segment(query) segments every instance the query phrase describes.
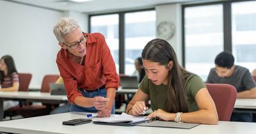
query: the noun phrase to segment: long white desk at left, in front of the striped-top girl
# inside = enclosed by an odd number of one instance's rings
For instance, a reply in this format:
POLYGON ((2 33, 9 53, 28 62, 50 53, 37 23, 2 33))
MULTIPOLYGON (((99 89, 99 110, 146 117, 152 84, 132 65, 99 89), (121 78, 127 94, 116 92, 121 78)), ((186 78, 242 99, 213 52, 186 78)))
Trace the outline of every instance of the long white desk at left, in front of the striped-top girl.
POLYGON ((0 121, 3 121, 3 101, 4 100, 22 100, 44 103, 67 103, 65 95, 51 95, 41 92, 3 92, 0 91, 0 121))

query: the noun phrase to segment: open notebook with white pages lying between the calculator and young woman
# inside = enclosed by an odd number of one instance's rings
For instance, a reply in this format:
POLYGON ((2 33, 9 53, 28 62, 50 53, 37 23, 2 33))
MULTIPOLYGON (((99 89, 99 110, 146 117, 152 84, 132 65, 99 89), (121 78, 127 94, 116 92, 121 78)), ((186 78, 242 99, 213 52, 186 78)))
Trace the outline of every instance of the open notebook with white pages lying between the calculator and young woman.
POLYGON ((120 125, 120 126, 134 126, 136 124, 145 123, 149 121, 149 118, 145 117, 136 117, 133 115, 128 115, 122 113, 121 115, 113 115, 111 117, 102 117, 93 119, 95 124, 111 124, 111 125, 120 125))

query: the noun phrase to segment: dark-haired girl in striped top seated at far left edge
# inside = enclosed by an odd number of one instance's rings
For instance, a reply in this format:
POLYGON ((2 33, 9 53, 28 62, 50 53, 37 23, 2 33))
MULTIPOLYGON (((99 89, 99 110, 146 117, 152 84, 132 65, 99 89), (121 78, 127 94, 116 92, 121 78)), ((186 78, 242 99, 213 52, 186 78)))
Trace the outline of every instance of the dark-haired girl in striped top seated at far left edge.
MULTIPOLYGON (((0 59, 0 91, 18 91, 19 74, 17 73, 13 58, 3 56, 0 59)), ((19 101, 4 101, 4 110, 19 105, 19 101)))

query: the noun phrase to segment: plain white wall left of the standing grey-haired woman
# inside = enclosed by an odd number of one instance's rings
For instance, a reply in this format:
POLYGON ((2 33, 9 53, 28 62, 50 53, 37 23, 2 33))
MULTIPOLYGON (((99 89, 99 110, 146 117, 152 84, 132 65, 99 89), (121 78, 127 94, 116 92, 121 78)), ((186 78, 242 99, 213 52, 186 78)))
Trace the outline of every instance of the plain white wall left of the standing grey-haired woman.
POLYGON ((59 74, 60 49, 52 27, 62 12, 0 1, 0 57, 9 54, 19 72, 32 73, 29 87, 40 88, 47 74, 59 74))

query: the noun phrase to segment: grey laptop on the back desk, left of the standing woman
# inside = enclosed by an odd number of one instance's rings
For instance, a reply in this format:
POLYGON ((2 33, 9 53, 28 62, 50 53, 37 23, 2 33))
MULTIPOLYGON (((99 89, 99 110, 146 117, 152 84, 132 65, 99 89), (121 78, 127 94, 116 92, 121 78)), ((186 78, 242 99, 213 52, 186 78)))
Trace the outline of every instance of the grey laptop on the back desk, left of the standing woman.
POLYGON ((50 83, 51 95, 66 95, 66 89, 63 84, 50 83))

